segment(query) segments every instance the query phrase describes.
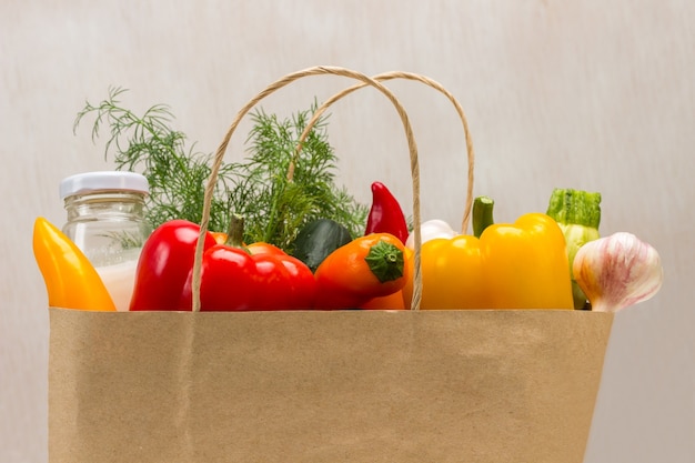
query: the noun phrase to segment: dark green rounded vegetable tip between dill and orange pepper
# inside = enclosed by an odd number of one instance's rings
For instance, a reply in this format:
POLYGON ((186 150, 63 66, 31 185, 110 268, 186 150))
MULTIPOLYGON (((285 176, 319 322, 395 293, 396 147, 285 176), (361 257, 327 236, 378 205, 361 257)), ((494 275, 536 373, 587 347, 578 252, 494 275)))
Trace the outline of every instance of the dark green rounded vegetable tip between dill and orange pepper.
POLYGON ((338 248, 352 241, 350 231, 331 219, 318 219, 304 225, 294 239, 292 255, 312 272, 338 248))

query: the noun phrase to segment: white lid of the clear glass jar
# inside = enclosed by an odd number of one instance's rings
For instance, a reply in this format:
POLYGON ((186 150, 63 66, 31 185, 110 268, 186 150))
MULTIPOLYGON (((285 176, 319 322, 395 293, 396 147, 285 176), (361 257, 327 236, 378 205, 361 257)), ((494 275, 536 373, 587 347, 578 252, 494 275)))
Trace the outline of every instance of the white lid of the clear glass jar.
POLYGON ((94 191, 132 191, 149 193, 148 179, 135 172, 102 171, 78 173, 60 182, 60 199, 94 191))

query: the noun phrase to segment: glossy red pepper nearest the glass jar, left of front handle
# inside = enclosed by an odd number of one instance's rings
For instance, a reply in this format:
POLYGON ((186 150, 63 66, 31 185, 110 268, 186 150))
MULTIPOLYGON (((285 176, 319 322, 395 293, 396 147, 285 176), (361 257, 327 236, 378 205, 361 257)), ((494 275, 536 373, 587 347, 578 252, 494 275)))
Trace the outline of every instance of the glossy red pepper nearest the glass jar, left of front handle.
MULTIPOLYGON (((200 225, 185 220, 164 222, 152 232, 138 261, 130 310, 191 310, 185 283, 199 235, 200 225)), ((208 233, 204 249, 214 244, 214 238, 208 233)))

